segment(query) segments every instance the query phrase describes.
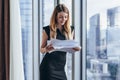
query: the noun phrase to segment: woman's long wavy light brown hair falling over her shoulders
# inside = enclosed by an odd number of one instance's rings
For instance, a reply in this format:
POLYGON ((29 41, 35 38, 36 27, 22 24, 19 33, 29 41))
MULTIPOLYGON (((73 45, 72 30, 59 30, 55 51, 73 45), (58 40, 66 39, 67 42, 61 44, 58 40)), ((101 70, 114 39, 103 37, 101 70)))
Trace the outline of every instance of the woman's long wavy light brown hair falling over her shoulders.
POLYGON ((66 39, 71 39, 71 28, 70 28, 70 17, 69 17, 69 10, 64 4, 58 4, 51 16, 50 20, 50 38, 56 39, 56 30, 57 30, 57 15, 59 12, 65 12, 68 14, 67 21, 63 26, 63 34, 65 35, 66 39))

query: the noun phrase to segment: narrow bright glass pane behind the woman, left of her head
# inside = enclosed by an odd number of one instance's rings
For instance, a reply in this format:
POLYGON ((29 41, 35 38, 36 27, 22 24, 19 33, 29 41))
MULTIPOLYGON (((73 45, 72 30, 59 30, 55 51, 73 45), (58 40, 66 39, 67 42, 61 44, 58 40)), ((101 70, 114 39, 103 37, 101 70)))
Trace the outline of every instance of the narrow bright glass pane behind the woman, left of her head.
MULTIPOLYGON (((48 0, 43 0, 42 1, 42 27, 47 26, 50 24, 50 18, 54 9, 54 0, 49 0, 49 4, 48 4, 48 0), (49 13, 49 14, 48 14, 49 13)), ((42 28, 41 28, 42 30, 42 28)), ((42 34, 42 32, 40 32, 40 34, 42 34)), ((40 42, 42 41, 42 36, 40 36, 40 42)), ((44 57, 44 54, 40 54, 40 63, 42 61, 44 57)))

